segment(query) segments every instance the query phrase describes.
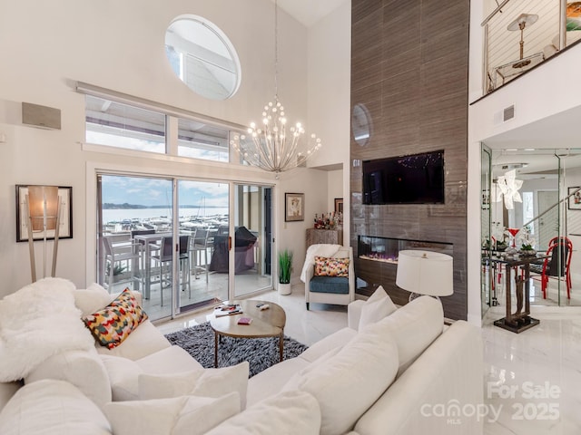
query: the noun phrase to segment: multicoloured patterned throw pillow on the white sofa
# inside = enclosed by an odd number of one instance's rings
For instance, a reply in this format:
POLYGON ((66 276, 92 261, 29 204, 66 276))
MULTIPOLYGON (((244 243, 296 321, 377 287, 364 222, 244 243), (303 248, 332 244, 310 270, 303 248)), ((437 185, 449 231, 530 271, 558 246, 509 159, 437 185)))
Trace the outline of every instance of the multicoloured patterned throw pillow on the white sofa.
POLYGON ((125 288, 111 304, 87 315, 83 321, 99 344, 113 349, 146 319, 147 314, 137 304, 129 288, 125 288))

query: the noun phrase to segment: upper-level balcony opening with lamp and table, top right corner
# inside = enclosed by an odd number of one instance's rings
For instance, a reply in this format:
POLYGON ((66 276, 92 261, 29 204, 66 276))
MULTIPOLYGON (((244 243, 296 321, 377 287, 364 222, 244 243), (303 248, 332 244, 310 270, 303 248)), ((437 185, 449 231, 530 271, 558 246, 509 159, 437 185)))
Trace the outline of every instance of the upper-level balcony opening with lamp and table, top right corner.
POLYGON ((581 1, 494 1, 482 23, 486 92, 581 40, 581 1))

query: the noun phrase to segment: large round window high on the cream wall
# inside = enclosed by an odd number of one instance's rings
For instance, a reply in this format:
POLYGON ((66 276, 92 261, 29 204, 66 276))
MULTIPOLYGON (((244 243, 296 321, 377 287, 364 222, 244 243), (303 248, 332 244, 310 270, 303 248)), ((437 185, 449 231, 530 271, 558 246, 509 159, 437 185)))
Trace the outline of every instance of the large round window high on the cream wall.
POLYGON ((240 86, 241 67, 234 46, 216 25, 181 15, 165 31, 165 54, 172 71, 193 92, 226 100, 240 86))

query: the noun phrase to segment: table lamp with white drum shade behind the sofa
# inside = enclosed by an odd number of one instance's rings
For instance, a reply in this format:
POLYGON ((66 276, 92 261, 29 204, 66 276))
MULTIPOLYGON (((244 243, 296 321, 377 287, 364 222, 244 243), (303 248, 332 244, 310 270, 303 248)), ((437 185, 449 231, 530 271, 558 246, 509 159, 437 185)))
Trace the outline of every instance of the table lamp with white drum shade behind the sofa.
POLYGON ((449 296, 454 293, 453 259, 439 252, 399 251, 396 285, 410 293, 409 300, 420 295, 449 296))

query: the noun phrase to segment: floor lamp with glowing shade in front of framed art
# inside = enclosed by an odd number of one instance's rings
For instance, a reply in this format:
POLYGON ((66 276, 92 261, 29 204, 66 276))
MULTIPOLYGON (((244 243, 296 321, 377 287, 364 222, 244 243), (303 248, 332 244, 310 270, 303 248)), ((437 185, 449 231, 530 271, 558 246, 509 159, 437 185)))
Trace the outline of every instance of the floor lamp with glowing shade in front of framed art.
POLYGON ((36 281, 36 264, 34 262, 34 233, 43 232, 44 256, 43 277, 46 276, 46 232, 54 230, 53 268, 56 272, 56 255, 58 252, 58 232, 60 224, 60 198, 57 186, 28 186, 26 194, 26 214, 28 227, 28 250, 30 253, 30 274, 33 283, 36 281))

